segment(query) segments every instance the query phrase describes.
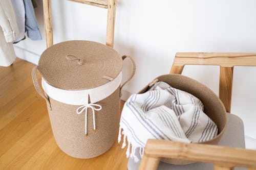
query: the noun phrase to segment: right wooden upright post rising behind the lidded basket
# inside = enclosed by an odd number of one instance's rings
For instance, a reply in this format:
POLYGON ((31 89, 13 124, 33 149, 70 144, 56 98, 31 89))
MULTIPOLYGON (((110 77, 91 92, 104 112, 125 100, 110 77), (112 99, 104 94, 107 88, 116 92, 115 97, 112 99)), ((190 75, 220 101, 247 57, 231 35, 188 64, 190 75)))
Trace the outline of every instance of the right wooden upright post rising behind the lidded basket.
POLYGON ((109 0, 108 2, 108 23, 106 26, 106 45, 114 46, 114 30, 115 30, 115 16, 116 16, 116 0, 109 0))

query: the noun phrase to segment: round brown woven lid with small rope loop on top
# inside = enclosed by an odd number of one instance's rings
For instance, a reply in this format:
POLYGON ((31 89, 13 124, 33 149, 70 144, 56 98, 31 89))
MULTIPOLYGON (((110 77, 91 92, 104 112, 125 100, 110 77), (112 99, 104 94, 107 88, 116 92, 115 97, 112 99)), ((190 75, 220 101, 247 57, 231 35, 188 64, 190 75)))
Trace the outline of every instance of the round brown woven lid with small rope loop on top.
POLYGON ((38 70, 53 87, 84 90, 116 78, 122 69, 121 56, 111 47, 93 41, 65 41, 42 53, 38 70), (104 78, 103 78, 104 77, 104 78))

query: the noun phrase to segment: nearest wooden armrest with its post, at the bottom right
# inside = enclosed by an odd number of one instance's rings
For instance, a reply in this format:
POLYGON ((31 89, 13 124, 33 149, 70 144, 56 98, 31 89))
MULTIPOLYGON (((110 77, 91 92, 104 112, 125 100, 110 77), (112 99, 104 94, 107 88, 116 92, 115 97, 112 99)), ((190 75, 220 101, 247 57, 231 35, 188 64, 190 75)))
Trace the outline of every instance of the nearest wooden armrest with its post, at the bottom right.
POLYGON ((149 139, 139 170, 157 169, 161 157, 214 163, 215 170, 233 169, 234 166, 256 169, 256 151, 253 150, 149 139))

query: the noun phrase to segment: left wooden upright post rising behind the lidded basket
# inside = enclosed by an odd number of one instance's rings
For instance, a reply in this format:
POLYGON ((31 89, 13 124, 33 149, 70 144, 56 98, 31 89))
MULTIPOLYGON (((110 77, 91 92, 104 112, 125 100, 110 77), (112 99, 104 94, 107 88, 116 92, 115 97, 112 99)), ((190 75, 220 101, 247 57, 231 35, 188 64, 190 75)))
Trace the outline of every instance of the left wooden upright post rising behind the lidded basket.
POLYGON ((53 32, 52 32, 52 3, 51 0, 43 0, 44 6, 44 20, 46 30, 46 44, 47 48, 53 45, 53 32))

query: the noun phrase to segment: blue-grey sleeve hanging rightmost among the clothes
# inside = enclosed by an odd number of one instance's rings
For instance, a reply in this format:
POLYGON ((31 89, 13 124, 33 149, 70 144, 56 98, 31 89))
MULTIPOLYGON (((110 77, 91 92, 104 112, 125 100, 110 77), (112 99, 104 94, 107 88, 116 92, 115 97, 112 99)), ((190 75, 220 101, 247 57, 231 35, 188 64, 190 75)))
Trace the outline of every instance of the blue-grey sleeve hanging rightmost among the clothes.
POLYGON ((25 27, 27 35, 32 40, 41 40, 41 33, 35 17, 35 11, 31 0, 24 0, 25 6, 25 27))

